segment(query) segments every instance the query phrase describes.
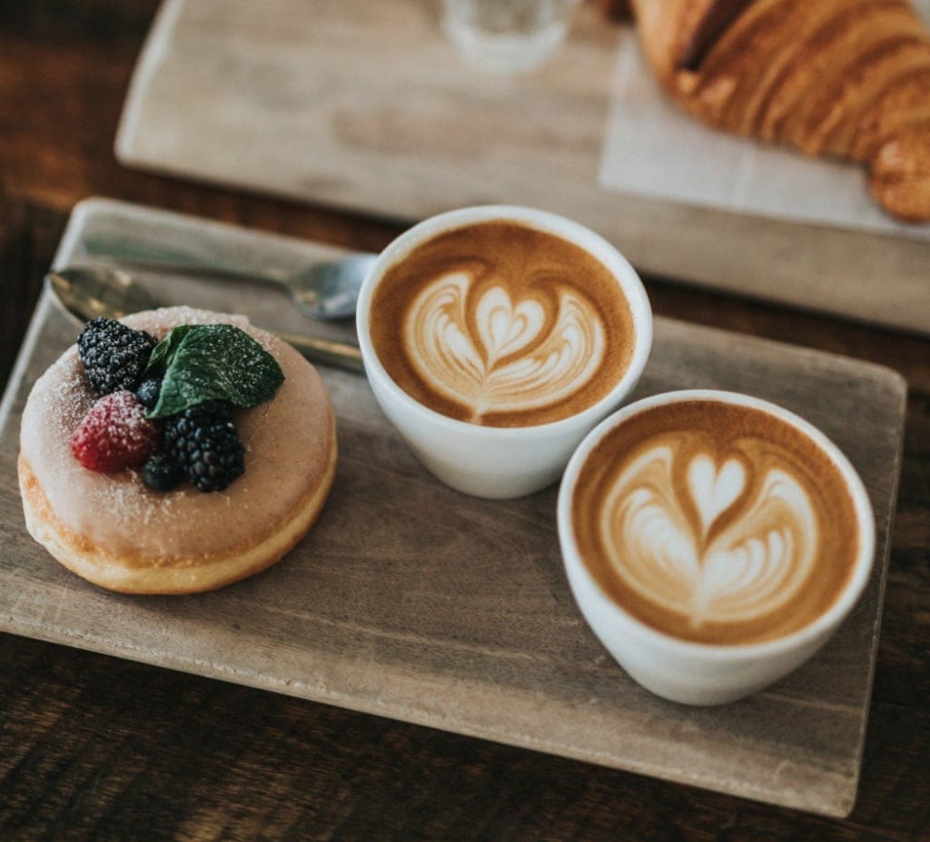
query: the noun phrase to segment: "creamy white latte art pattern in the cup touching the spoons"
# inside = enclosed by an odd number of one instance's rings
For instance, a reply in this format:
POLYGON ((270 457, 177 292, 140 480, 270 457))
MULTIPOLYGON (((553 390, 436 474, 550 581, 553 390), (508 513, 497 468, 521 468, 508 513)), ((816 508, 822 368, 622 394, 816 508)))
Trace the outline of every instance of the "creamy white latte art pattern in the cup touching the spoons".
POLYGON ((604 326, 590 302, 562 290, 551 313, 532 297, 513 301, 502 286, 472 301, 472 285, 467 274, 445 275, 411 303, 405 346, 429 388, 478 421, 558 403, 588 385, 604 358, 604 326))

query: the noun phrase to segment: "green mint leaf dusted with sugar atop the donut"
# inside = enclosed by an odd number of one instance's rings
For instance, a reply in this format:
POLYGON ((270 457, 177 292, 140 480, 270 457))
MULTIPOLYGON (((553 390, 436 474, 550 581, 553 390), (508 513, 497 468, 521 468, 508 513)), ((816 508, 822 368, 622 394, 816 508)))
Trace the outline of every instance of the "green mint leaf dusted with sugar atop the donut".
POLYGON ((150 368, 164 364, 166 370, 158 403, 146 413, 149 418, 166 418, 207 400, 254 407, 284 382, 274 357, 239 327, 183 327, 187 329, 179 333, 178 327, 172 330, 150 358, 150 368), (162 345, 166 348, 159 352, 162 345))

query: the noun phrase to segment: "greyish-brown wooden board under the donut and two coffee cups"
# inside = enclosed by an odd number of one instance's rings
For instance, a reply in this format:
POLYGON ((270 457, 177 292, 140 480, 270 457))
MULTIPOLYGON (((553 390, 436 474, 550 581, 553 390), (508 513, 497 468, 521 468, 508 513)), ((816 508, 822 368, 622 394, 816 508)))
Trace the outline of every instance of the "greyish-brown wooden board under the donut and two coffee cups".
MULTIPOLYGON (((57 263, 88 236, 297 266, 333 249, 106 200, 73 213, 57 263)), ((263 287, 140 274, 165 303, 302 321, 263 287)), ((638 395, 683 387, 773 400, 823 429, 869 489, 874 573, 838 635, 775 687, 723 708, 636 685, 582 620, 556 541, 556 488, 485 501, 445 488, 381 415, 364 377, 323 368, 339 472, 309 536, 218 592, 134 597, 61 568, 27 534, 20 414, 77 328, 44 296, 0 406, 0 630, 817 812, 856 796, 897 493, 905 383, 845 357, 667 319, 638 395)))

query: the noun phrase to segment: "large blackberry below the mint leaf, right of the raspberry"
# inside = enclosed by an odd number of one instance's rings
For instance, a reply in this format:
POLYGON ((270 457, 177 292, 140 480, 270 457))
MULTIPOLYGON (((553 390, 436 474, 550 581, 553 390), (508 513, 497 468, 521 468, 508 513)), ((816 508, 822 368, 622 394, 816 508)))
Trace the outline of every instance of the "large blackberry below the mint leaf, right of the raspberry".
POLYGON ((221 491, 246 470, 233 407, 225 401, 205 401, 172 416, 165 425, 165 444, 201 491, 221 491))

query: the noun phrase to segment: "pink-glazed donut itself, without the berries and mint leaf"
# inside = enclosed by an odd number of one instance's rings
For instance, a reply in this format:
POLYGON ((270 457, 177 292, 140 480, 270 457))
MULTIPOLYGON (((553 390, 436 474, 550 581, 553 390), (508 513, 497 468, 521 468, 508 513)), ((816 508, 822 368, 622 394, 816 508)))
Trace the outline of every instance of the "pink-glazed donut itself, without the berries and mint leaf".
POLYGON ((241 316, 169 307, 126 316, 161 340, 182 324, 233 324, 272 354, 285 380, 271 400, 236 410, 245 473, 203 493, 148 488, 140 470, 105 474, 71 438, 98 399, 72 346, 35 382, 20 428, 20 492, 30 534, 87 581, 131 594, 212 590, 270 567, 312 527, 336 473, 326 386, 297 351, 241 316))

